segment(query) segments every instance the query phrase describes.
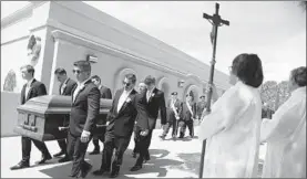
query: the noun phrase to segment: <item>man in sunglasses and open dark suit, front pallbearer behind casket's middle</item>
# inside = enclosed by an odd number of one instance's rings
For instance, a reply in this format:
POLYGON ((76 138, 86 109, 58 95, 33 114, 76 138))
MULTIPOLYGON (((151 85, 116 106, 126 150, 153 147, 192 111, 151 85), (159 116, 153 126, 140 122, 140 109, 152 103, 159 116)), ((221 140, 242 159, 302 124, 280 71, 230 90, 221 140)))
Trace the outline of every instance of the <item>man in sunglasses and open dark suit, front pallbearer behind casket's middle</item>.
MULTIPOLYGON (((123 81, 124 88, 117 90, 108 115, 109 125, 106 127, 104 148, 102 154, 102 164, 99 170, 94 171, 100 176, 111 170, 111 178, 119 176, 120 166, 122 165, 123 155, 126 150, 132 133, 135 118, 147 119, 145 109, 144 95, 139 95, 134 90, 136 77, 134 74, 125 75, 123 81), (113 150, 115 156, 111 165, 113 150), (112 167, 111 167, 112 166, 112 167)), ((147 131, 143 131, 144 134, 147 131)))

